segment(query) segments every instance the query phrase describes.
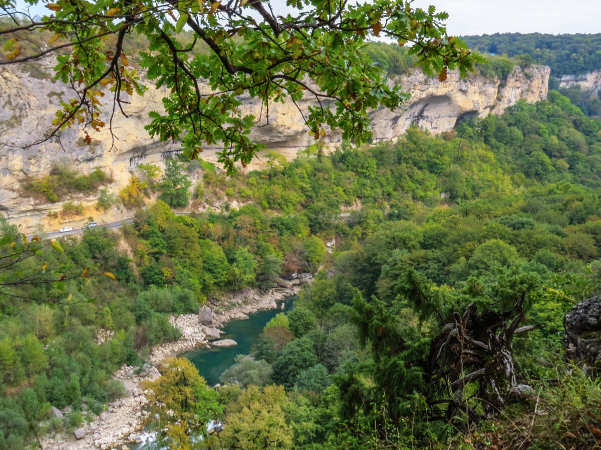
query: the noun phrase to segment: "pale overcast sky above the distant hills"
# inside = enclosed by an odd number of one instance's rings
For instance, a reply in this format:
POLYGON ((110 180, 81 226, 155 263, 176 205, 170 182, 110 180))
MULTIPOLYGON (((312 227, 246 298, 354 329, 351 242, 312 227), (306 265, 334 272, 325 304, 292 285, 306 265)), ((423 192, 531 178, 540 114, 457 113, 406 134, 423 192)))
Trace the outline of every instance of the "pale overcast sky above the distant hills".
MULTIPOLYGON (((355 0, 350 0, 349 3, 355 0)), ((22 0, 17 4, 23 5, 22 0)), ((285 0, 271 0, 276 11, 285 0)), ((435 5, 447 11, 449 35, 496 32, 599 33, 601 0, 414 0, 413 7, 435 5)), ((36 13, 49 13, 43 7, 36 13)))

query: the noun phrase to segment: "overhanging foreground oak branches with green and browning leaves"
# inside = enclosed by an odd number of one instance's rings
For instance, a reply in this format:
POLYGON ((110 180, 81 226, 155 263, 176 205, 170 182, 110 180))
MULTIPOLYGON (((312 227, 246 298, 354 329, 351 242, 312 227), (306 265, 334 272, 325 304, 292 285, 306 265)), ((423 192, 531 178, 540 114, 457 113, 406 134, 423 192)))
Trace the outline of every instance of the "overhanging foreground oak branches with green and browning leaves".
MULTIPOLYGON (((44 3, 25 2, 35 4, 44 3)), ((361 142, 371 136, 368 110, 380 105, 394 109, 406 98, 398 86, 386 84, 382 68, 371 64, 363 49, 365 40, 386 37, 401 46, 409 44, 407 53, 416 56, 426 74, 436 71, 441 80, 447 70, 459 68, 465 76, 475 62, 483 61, 459 38, 447 35, 446 13, 437 13, 434 7, 412 8, 403 0, 365 4, 316 0, 309 8, 293 1, 285 13, 258 1, 186 0, 174 7, 157 0, 132 4, 57 0, 47 4, 53 14, 41 20, 11 1, 2 0, 0 6, 11 16, 23 13, 20 23, 3 31, 20 33, 10 34, 4 42, 10 64, 69 47, 69 52, 58 55, 55 73, 67 85, 78 86, 76 99, 62 104, 53 130, 38 142, 80 123, 85 130, 103 127, 97 110, 105 89, 114 92, 115 109, 125 101, 125 93, 144 93, 147 88, 129 61, 134 55, 124 52, 126 37, 138 33, 150 42, 140 60, 148 79, 169 91, 163 99, 165 112, 150 113, 148 131, 161 140, 181 139, 189 157, 196 157, 204 145, 221 142, 219 160, 230 171, 234 162, 248 163, 260 148, 248 136, 255 118, 240 110, 239 95, 244 92, 265 105, 287 96, 299 100, 305 92, 332 101, 334 108, 317 106, 305 116, 311 134, 319 138, 326 126, 340 128, 343 139, 361 142), (185 27, 190 31, 183 34, 185 27), (20 39, 40 28, 49 31, 44 35, 47 42, 27 46, 24 43, 32 38, 20 39), (114 37, 107 41, 111 34, 114 37), (186 43, 190 34, 192 41, 186 43), (198 80, 206 80, 210 89, 198 80)))

